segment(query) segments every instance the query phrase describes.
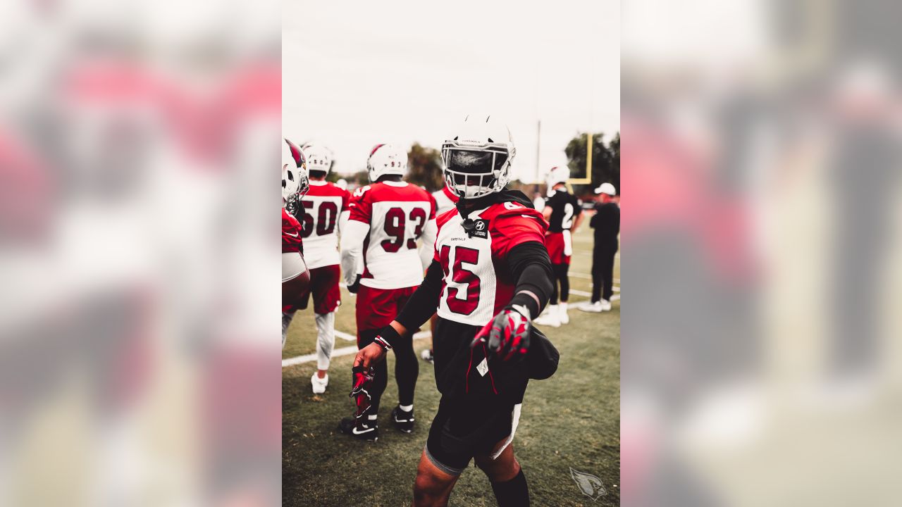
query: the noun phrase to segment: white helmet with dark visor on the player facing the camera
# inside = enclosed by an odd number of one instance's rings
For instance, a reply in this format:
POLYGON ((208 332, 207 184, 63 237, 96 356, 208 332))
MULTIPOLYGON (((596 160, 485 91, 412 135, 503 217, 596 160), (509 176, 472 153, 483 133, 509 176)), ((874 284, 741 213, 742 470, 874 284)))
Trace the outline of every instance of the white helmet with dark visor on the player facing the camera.
POLYGON ((500 192, 511 179, 516 152, 507 125, 492 116, 469 115, 442 143, 445 184, 462 199, 500 192))

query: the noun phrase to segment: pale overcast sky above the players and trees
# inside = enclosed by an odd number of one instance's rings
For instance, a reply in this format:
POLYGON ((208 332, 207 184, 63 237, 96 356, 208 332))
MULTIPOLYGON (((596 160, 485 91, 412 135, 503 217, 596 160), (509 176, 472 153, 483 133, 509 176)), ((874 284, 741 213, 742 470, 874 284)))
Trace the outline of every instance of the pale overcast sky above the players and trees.
POLYGON ((543 173, 578 131, 620 130, 618 1, 385 4, 283 4, 282 132, 327 144, 336 171, 375 143, 438 148, 468 113, 510 126, 521 180, 539 119, 543 173))

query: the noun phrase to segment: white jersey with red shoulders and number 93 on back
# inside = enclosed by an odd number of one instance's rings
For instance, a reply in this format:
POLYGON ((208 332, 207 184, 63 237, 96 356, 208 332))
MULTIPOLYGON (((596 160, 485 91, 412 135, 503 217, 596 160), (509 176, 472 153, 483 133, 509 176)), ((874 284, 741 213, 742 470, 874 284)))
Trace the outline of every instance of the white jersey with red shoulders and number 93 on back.
MULTIPOLYGON (((436 209, 426 190, 403 181, 383 181, 354 192, 347 235, 342 237, 345 281, 373 289, 416 287, 423 281, 425 261, 431 262, 436 209), (417 240, 428 243, 418 251, 417 240), (356 270, 364 257, 364 272, 356 270)), ((305 248, 307 247, 305 242, 305 248)))

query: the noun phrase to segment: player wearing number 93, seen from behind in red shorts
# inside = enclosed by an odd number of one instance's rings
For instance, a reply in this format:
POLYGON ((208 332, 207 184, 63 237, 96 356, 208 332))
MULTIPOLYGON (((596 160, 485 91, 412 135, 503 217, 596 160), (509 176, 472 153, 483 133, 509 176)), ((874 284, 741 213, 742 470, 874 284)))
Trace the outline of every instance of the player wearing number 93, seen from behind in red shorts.
MULTIPOLYGON (((402 181, 407 152, 391 144, 377 144, 366 162, 369 185, 354 191, 351 215, 341 238, 341 266, 348 290, 357 293, 357 347, 373 343, 410 299, 423 272, 432 262, 436 239, 436 207, 429 193, 402 181), (423 247, 417 251, 417 240, 423 247), (364 258, 364 271, 358 261, 364 258)), ((413 431, 413 392, 419 375, 412 337, 395 352, 395 381, 399 405, 391 410, 396 428, 413 431)), ((339 429, 356 438, 374 440, 379 401, 388 384, 388 367, 375 365, 371 409, 359 419, 342 419, 339 429)))

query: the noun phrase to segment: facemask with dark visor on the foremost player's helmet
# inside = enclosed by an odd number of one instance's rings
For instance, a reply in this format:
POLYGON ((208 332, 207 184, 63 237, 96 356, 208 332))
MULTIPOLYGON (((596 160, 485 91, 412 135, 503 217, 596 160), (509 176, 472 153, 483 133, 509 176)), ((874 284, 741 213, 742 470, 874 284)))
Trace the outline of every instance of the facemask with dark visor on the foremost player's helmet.
POLYGON ((508 184, 511 156, 505 143, 473 146, 446 141, 442 144, 445 184, 462 199, 500 192, 508 184))

